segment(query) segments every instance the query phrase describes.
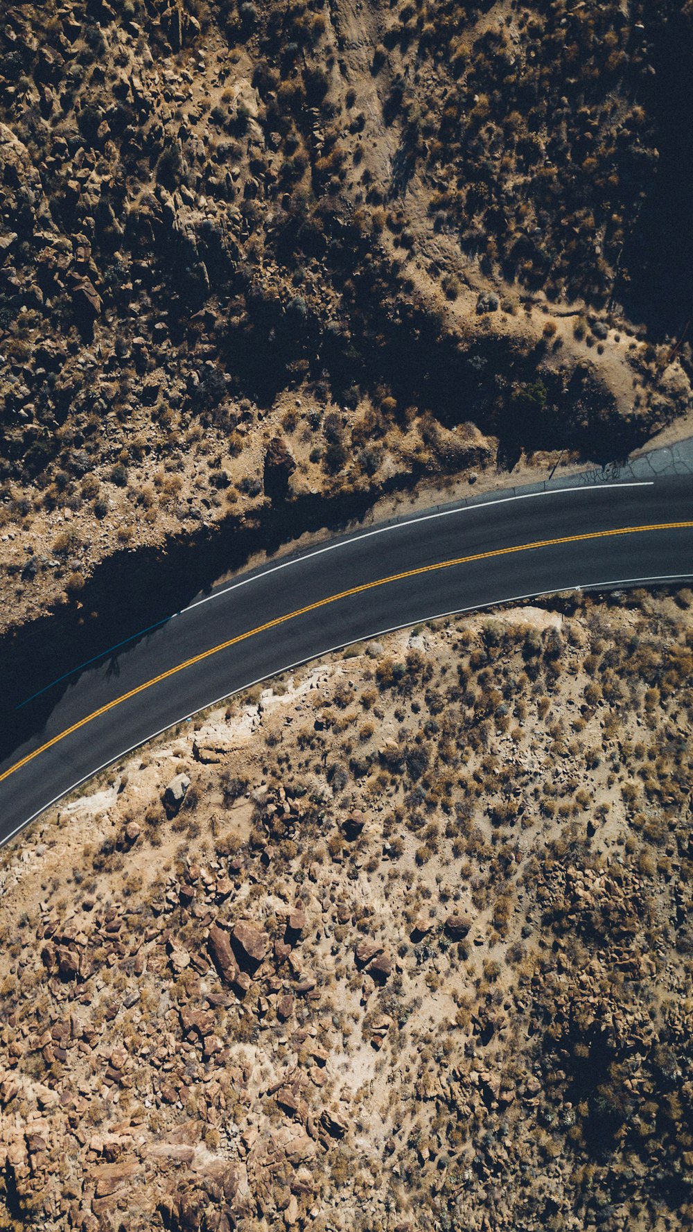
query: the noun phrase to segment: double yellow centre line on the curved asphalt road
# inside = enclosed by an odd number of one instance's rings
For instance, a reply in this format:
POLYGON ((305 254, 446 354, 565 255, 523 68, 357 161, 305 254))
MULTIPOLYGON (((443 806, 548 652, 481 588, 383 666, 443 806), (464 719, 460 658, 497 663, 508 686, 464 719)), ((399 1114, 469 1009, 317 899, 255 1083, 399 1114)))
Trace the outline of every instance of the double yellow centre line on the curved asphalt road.
POLYGON ((598 540, 598 538, 611 538, 617 535, 641 535, 646 531, 671 531, 671 530, 687 530, 693 527, 692 522, 659 522, 652 526, 625 526, 620 530, 609 531, 588 531, 583 535, 566 535, 563 538, 553 540, 537 540, 534 543, 519 543, 517 547, 499 547, 492 552, 476 552, 474 556, 460 556, 454 561, 439 561, 437 564, 423 564, 416 569, 407 569, 404 573, 393 573, 388 578, 378 578, 375 582, 364 582, 359 586, 351 586, 350 590, 341 590, 336 595, 327 595, 325 599, 318 599, 314 604, 306 604, 305 607, 298 607, 293 612, 287 612, 284 616, 276 616, 273 620, 267 621, 265 625, 258 625, 257 628, 251 628, 247 633, 239 633, 236 637, 229 638, 228 642, 220 642, 219 646, 213 646, 209 650, 202 650, 199 654, 193 655, 192 659, 186 659, 185 663, 178 663, 175 668, 169 668, 167 671, 162 671, 158 676, 153 676, 151 680, 145 680, 144 684, 137 685, 135 689, 130 689, 129 692, 123 694, 121 697, 114 697, 113 701, 106 702, 98 710, 95 710, 92 715, 86 715, 85 718, 80 718, 79 722, 73 723, 71 727, 66 727, 64 732, 54 736, 41 748, 34 749, 33 753, 27 753, 21 761, 15 763, 9 770, 5 770, 0 775, 0 782, 9 779, 11 774, 16 770, 21 770, 30 761, 33 761, 41 753, 46 753, 47 749, 52 749, 65 737, 71 736, 74 732, 79 732, 81 727, 86 727, 95 718, 100 718, 102 715, 107 715, 110 710, 114 710, 124 701, 129 701, 130 697, 137 697, 138 694, 144 692, 145 689, 150 689, 153 685, 158 685, 161 680, 167 680, 170 676, 175 676, 177 671, 183 671, 185 668, 192 668, 196 663, 202 663, 203 659, 210 658, 213 654, 218 654, 220 650, 228 650, 230 646, 238 646, 239 642, 245 642, 249 637, 256 637, 257 633, 266 633, 270 628, 276 628, 278 625, 286 623, 286 621, 295 620, 297 616, 305 616, 308 612, 318 611, 319 607, 326 607, 327 604, 335 604, 340 599, 350 599, 352 595, 362 594, 366 590, 374 590, 375 586, 387 586, 391 582, 403 582, 405 578, 416 578, 422 573, 435 573, 437 569, 452 569, 458 564, 473 564, 475 561, 490 561, 494 557, 500 556, 512 556, 515 552, 532 552, 540 547, 559 547, 561 543, 580 543, 585 540, 598 540))

